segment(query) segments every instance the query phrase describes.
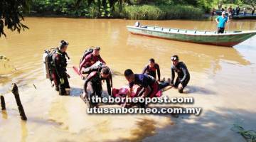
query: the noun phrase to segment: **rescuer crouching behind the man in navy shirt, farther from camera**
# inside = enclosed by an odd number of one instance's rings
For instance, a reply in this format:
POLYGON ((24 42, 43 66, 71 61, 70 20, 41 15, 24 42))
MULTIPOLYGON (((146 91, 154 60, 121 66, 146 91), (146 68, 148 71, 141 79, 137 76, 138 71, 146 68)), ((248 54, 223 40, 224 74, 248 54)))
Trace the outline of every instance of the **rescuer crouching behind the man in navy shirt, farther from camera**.
POLYGON ((153 58, 149 59, 149 64, 144 67, 142 70, 142 74, 151 75, 156 79, 156 71, 157 71, 157 77, 158 81, 160 81, 160 67, 159 65, 154 61, 153 58))

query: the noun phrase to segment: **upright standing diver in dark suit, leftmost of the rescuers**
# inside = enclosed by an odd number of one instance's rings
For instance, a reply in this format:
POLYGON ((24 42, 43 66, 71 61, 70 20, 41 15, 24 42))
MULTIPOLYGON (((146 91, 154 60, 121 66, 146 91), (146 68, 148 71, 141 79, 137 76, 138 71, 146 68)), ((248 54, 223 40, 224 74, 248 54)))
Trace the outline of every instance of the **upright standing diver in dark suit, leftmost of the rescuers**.
POLYGON ((56 91, 59 91, 60 95, 65 95, 66 88, 70 88, 68 78, 70 75, 67 74, 67 55, 66 50, 68 48, 68 42, 65 40, 60 41, 59 47, 53 53, 53 72, 52 77, 55 84, 56 91))

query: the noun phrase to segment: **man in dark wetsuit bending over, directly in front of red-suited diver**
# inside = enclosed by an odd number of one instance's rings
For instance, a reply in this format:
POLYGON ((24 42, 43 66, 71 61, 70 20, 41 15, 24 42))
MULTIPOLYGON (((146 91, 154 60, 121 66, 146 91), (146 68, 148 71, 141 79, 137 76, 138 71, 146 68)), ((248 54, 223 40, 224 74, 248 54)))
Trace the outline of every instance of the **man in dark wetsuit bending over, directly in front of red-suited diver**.
MULTIPOLYGON (((107 92, 111 96, 111 87, 112 87, 112 76, 109 67, 102 67, 100 72, 93 71, 87 76, 84 84, 84 93, 82 94, 82 99, 88 99, 89 95, 87 89, 90 89, 91 93, 90 98, 92 96, 102 97, 102 80, 106 80, 107 84, 107 92), (88 85, 89 84, 89 85, 88 85)), ((92 105, 92 102, 90 102, 92 105)), ((90 104, 87 104, 90 107, 90 104)))

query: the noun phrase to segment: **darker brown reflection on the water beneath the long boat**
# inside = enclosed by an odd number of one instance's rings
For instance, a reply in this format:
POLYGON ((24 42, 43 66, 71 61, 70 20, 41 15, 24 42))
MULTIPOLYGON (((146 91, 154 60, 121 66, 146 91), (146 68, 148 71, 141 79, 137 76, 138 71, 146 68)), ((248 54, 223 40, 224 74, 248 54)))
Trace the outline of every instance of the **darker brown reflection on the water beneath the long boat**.
MULTIPOLYGON (((250 61, 245 60, 235 48, 183 43, 140 35, 129 35, 127 38, 127 45, 130 45, 132 48, 146 48, 147 50, 154 52, 157 56, 165 57, 164 59, 167 61, 169 61, 169 58, 173 54, 180 55, 181 59, 186 60, 188 65, 190 64, 190 67, 196 72, 212 70, 215 74, 221 70, 220 62, 250 65, 250 61)), ((170 61, 169 64, 171 64, 170 61)))

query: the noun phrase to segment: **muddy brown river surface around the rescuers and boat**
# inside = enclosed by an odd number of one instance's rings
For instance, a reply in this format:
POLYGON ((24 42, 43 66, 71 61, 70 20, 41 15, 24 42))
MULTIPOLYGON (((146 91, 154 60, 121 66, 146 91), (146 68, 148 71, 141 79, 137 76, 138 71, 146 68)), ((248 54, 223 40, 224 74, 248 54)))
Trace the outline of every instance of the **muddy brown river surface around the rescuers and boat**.
MULTIPOLYGON (((0 93, 6 111, 0 111, 0 141, 245 141, 230 130, 233 124, 256 129, 256 36, 234 48, 183 43, 130 34, 135 21, 79 18, 26 18, 30 29, 18 34, 6 31, 0 38, 0 93), (43 50, 68 40, 70 96, 59 96, 43 76, 43 50), (142 72, 149 58, 170 77, 171 55, 186 63, 191 81, 179 94, 193 97, 189 107, 202 107, 194 115, 88 115, 80 99, 82 80, 72 70, 91 45, 114 72, 114 87, 127 84, 123 72, 142 72), (21 121, 9 87, 16 82, 28 121, 21 121), (35 87, 34 87, 35 86, 35 87)), ((140 21, 144 25, 216 30, 214 21, 140 21)), ((256 21, 230 21, 228 31, 255 30, 256 21)), ((105 84, 104 84, 105 85, 105 84)), ((175 104, 169 107, 183 107, 175 104)))

